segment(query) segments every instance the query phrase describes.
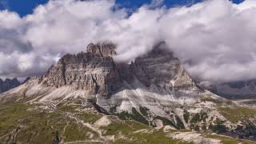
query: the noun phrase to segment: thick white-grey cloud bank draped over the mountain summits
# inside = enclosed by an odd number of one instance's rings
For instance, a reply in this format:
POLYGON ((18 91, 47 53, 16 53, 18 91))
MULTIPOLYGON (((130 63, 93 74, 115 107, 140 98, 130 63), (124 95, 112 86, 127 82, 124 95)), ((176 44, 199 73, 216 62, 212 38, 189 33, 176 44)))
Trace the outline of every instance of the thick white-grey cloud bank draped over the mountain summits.
POLYGON ((239 5, 211 0, 171 9, 159 7, 161 2, 130 16, 106 0, 50 1, 24 18, 0 11, 0 76, 42 74, 63 54, 85 51, 90 42, 116 43, 115 60, 128 62, 164 40, 194 78, 256 78, 254 0, 239 5))

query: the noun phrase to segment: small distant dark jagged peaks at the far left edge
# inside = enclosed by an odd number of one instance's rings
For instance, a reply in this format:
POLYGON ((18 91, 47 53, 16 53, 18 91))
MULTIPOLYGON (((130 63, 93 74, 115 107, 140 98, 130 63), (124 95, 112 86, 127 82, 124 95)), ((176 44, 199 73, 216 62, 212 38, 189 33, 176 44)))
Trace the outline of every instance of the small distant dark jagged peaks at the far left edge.
POLYGON ((21 85, 21 82, 19 82, 17 78, 14 78, 14 79, 6 78, 4 82, 0 78, 0 93, 6 92, 7 90, 13 89, 14 87, 17 87, 20 85, 21 85))

